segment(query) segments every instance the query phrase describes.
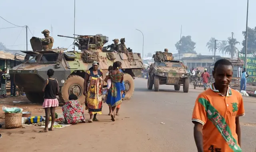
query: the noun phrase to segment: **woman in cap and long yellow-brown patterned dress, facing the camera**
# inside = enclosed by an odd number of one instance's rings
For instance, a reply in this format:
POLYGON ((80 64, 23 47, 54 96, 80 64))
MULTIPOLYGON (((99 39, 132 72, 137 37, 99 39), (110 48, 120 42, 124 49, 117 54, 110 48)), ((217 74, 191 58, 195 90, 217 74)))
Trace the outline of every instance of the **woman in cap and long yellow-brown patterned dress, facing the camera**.
POLYGON ((85 106, 90 114, 88 122, 99 121, 96 115, 102 114, 103 74, 98 70, 99 62, 94 61, 92 67, 84 77, 85 106))

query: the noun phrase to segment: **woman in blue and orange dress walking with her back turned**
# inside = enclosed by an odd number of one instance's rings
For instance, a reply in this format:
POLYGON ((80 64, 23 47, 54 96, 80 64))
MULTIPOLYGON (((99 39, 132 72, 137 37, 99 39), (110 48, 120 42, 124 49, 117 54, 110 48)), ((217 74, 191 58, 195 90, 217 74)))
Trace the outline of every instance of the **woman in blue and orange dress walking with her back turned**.
MULTIPOLYGON (((111 79, 111 87, 108 91, 107 104, 111 106, 110 115, 111 120, 115 121, 115 112, 118 104, 122 103, 121 84, 124 80, 124 74, 120 72, 119 67, 122 63, 119 61, 114 62, 112 74, 109 76, 111 79)), ((106 78, 107 80, 108 78, 106 78)))

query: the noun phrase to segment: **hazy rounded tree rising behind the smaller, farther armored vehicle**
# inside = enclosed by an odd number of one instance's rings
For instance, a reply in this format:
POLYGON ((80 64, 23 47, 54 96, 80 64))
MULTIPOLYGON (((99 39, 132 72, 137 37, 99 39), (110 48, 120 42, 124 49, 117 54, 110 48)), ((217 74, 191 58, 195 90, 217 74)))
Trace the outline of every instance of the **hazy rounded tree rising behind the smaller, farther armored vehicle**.
POLYGON ((195 45, 196 42, 191 40, 191 36, 182 36, 181 41, 176 42, 175 47, 178 53, 196 53, 195 45))

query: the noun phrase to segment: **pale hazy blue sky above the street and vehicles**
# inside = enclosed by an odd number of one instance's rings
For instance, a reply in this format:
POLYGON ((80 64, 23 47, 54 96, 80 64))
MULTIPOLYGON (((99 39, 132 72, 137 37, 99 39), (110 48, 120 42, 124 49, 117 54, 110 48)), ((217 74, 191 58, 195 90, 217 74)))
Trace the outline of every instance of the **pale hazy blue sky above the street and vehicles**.
MULTIPOLYGON (((137 28, 144 34, 144 56, 164 48, 177 53, 174 44, 180 39, 182 24, 182 35, 192 36, 196 52, 211 55, 206 48, 211 37, 226 40, 234 32, 242 42, 246 5, 246 0, 76 0, 76 34, 103 34, 109 37, 109 44, 124 37, 127 47, 142 53, 142 34, 137 28)), ((256 26, 255 6, 256 1, 250 0, 251 28, 256 26)), ((73 36, 74 0, 1 0, 0 16, 19 26, 28 25, 36 37, 43 37, 42 30, 51 31, 52 25, 54 48, 67 48, 73 42, 57 35, 73 36)), ((5 27, 13 25, 0 18, 0 28, 5 27)), ((12 50, 26 50, 26 29, 21 30, 0 29, 0 42, 12 50)), ((28 33, 28 43, 32 34, 28 33)))

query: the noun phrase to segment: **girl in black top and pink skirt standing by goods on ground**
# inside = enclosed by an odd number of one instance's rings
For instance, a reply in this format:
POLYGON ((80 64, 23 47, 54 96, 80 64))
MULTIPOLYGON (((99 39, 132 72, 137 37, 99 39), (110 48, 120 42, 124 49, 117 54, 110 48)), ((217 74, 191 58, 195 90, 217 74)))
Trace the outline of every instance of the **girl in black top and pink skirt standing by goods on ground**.
POLYGON ((59 92, 59 84, 56 79, 52 76, 54 74, 54 70, 49 69, 47 71, 48 79, 44 81, 43 92, 44 92, 44 103, 43 108, 45 110, 45 128, 40 132, 48 132, 48 130, 53 130, 54 120, 55 120, 55 107, 59 106, 58 99, 56 94, 59 92), (52 124, 48 129, 48 124, 50 120, 50 114, 52 116, 52 124))

